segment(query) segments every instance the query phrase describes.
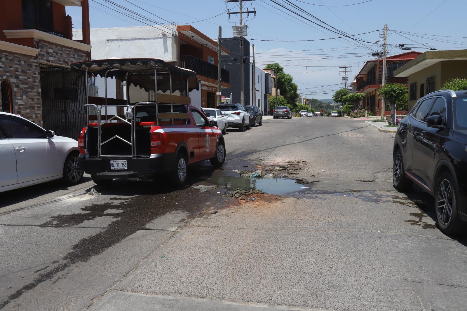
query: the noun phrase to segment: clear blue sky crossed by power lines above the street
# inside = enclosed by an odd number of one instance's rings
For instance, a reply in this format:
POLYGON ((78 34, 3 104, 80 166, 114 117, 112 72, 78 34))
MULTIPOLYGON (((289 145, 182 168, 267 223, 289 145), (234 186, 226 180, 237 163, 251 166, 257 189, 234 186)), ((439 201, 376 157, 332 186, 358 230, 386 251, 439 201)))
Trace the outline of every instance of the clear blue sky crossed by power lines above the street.
MULTIPOLYGON (((227 14, 223 13, 226 9, 238 11, 238 3, 225 3, 223 0, 112 1, 153 21, 164 24, 167 24, 167 21, 177 24, 191 24, 212 38, 217 38, 217 25, 222 26, 224 37, 232 36, 231 27, 238 25, 238 15, 232 15, 229 20, 227 14), (213 17, 218 14, 220 15, 213 17), (200 21, 205 19, 208 20, 200 21)), ((464 30, 464 12, 467 9, 466 0, 275 1, 284 6, 293 3, 328 25, 350 35, 374 31, 369 34, 358 35, 361 40, 371 42, 361 42, 367 47, 361 46, 348 38, 311 42, 254 40, 311 40, 338 37, 340 35, 304 20, 283 7, 279 7, 272 0, 244 2, 244 9, 253 10, 253 7, 255 7, 257 12, 256 18, 250 15, 248 19, 244 15, 246 24, 249 26, 247 38, 250 44, 255 44, 257 66, 262 68, 265 64, 272 62, 281 64, 284 70, 293 76, 294 82, 298 85, 299 93, 308 94, 308 98, 331 98, 332 93, 343 86, 338 66, 353 66, 350 74, 353 78, 360 71, 365 61, 374 59, 375 57, 371 57, 370 53, 381 50, 381 46, 374 43, 380 39, 379 33, 375 30, 382 32, 385 23, 388 24, 388 28, 391 30, 404 32, 389 31, 388 43, 391 44, 403 43, 405 46, 410 47, 428 46, 435 49, 467 48, 467 34, 464 30), (366 2, 351 5, 363 1, 366 2)), ((103 7, 102 5, 111 6, 105 0, 89 0, 89 3, 91 28, 146 25, 141 21, 135 21, 103 7)), ((123 10, 120 11, 124 12, 123 10)), ((81 9, 79 7, 67 7, 67 14, 72 16, 74 28, 81 28, 81 9)), ((302 15, 318 22, 309 15, 304 13, 302 15)), ((146 22, 154 24, 149 21, 146 22)), ((320 22, 318 23, 330 28, 320 22)), ((382 41, 379 43, 382 43, 382 41)), ((424 52, 427 49, 418 48, 413 50, 424 52)), ((389 55, 402 52, 406 51, 394 46, 389 47, 389 55)))

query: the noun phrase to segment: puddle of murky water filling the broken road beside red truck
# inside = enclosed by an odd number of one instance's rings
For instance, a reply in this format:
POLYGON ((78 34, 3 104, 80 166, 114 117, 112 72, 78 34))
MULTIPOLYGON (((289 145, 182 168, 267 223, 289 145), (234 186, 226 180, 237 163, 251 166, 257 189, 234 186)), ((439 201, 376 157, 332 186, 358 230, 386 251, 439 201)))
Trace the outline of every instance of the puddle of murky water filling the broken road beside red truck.
POLYGON ((249 189, 255 188, 269 194, 301 193, 310 189, 309 184, 298 184, 288 178, 242 178, 237 176, 216 176, 205 180, 221 187, 249 189))

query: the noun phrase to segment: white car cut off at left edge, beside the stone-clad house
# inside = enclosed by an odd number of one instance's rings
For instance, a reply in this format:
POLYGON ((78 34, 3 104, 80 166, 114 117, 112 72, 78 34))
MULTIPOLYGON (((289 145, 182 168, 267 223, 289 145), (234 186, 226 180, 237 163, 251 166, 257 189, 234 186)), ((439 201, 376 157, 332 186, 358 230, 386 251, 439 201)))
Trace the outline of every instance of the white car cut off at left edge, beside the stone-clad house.
POLYGON ((0 192, 60 178, 77 184, 83 177, 78 155, 78 141, 0 112, 0 192))

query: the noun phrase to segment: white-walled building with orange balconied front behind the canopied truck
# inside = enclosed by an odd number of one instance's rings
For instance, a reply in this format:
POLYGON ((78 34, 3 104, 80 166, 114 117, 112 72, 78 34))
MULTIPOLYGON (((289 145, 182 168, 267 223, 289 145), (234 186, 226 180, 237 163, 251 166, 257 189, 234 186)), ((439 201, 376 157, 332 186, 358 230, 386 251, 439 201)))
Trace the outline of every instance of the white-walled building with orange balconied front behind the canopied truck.
MULTIPOLYGON (((81 38, 82 29, 73 30, 73 38, 81 38)), ((197 72, 199 90, 189 93, 191 105, 198 108, 212 106, 217 91, 217 42, 199 32, 190 25, 157 25, 141 27, 92 28, 92 58, 159 58, 176 66, 197 72), (216 67, 216 68, 213 68, 216 67), (215 73, 215 77, 212 76, 215 73)), ((228 50, 222 48, 222 54, 228 50)), ((228 72, 223 70, 222 87, 230 87, 224 82, 228 72)), ((226 78, 228 80, 228 77, 226 78)), ((99 87, 98 94, 104 97, 104 78, 93 80, 99 87)), ((107 97, 119 98, 119 81, 107 78, 107 97)), ((123 97, 126 99, 126 88, 123 97)), ((121 92, 120 92, 121 93, 121 92)), ((151 100, 149 94, 130 85, 130 100, 151 100)))

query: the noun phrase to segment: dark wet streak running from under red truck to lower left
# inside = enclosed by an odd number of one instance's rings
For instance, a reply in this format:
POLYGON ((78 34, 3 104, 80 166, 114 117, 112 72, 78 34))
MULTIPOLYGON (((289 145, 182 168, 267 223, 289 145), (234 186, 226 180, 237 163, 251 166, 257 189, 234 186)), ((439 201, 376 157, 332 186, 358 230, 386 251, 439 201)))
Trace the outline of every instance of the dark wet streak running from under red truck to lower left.
MULTIPOLYGON (((113 184, 111 190, 101 191, 101 193, 130 195, 128 192, 134 193, 135 189, 138 189, 140 193, 144 194, 129 198, 114 197, 103 204, 92 204, 83 207, 81 208, 82 212, 53 216, 50 220, 44 222, 41 226, 71 227, 103 216, 114 219, 99 233, 79 240, 78 243, 71 247, 72 251, 64 255, 57 266, 40 273, 32 282, 16 290, 6 300, 1 301, 0 309, 5 308, 28 290, 56 278, 58 274, 64 272, 73 264, 89 261, 93 256, 101 254, 109 247, 139 230, 149 230, 146 226, 154 219, 169 212, 186 212, 189 216, 186 216, 185 219, 191 219, 208 206, 204 205, 204 202, 213 202, 212 195, 209 192, 199 193, 199 191, 190 188, 174 191, 161 185, 156 186, 154 182, 136 181, 136 183, 138 185, 134 184, 134 182, 132 184, 130 181, 114 183, 115 185, 113 184), (160 190, 157 191, 157 189, 160 190), (196 201, 190 199, 194 196, 198 198, 196 201), (198 205, 196 202, 201 203, 198 205)), ((48 268, 49 266, 45 266, 36 270, 36 273, 48 268)), ((54 282, 66 277, 66 275, 67 273, 58 276, 54 282)))

